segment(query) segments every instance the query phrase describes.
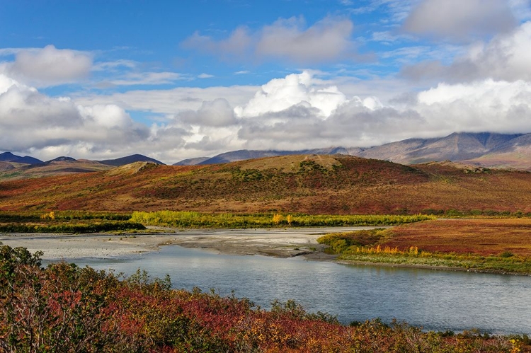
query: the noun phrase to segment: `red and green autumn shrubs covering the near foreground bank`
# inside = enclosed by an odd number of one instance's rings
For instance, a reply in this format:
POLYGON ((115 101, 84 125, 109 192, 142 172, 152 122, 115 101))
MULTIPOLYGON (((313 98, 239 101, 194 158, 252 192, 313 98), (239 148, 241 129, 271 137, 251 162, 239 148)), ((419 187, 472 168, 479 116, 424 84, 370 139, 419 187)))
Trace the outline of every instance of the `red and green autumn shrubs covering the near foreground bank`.
POLYGON ((0 245, 1 352, 529 352, 527 336, 423 332, 380 320, 346 326, 293 301, 171 289, 0 245))

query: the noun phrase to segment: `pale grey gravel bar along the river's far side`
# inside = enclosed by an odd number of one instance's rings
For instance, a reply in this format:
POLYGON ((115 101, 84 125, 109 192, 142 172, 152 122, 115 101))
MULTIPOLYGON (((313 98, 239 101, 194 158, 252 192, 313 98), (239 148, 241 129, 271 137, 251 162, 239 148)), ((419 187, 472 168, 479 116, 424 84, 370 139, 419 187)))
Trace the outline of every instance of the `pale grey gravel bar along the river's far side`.
MULTIPOLYGON (((372 227, 343 227, 353 231, 372 227)), ((0 242, 13 248, 24 247, 32 253, 42 251, 43 260, 75 260, 142 255, 164 245, 202 248, 227 255, 265 255, 309 260, 332 260, 316 239, 338 228, 271 229, 193 229, 155 228, 159 233, 128 234, 50 234, 11 233, 0 235, 0 242)))

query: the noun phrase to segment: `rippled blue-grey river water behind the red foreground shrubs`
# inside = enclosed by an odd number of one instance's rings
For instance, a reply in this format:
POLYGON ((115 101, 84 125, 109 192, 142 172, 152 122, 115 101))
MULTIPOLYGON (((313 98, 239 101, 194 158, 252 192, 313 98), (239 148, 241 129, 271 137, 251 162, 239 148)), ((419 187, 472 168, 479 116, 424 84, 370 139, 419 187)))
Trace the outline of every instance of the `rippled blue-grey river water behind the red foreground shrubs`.
POLYGON ((263 308, 295 299, 308 311, 353 320, 393 318, 426 330, 531 333, 531 278, 365 265, 302 258, 218 255, 166 246, 158 253, 119 260, 75 260, 98 270, 171 276, 173 287, 222 295, 234 290, 263 308))

